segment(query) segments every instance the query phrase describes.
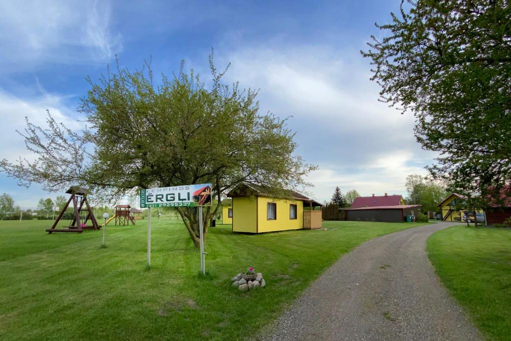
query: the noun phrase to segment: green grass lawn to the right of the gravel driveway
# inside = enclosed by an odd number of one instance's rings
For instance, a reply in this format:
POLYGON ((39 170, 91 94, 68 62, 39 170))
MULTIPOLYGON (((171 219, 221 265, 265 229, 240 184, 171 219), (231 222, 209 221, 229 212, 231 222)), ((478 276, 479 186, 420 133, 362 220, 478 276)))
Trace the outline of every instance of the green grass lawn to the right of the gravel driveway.
POLYGON ((511 229, 458 225, 428 239, 436 273, 491 339, 511 339, 511 229))

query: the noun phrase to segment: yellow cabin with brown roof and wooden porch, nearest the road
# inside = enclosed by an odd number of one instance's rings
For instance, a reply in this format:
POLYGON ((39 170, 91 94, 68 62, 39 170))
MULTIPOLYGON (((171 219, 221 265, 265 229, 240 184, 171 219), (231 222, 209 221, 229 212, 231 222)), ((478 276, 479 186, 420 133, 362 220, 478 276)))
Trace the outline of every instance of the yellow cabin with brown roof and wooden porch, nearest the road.
POLYGON ((233 232, 264 233, 321 228, 322 204, 295 191, 286 198, 267 194, 268 189, 243 183, 229 192, 233 232), (306 210, 304 210, 304 205, 306 210))

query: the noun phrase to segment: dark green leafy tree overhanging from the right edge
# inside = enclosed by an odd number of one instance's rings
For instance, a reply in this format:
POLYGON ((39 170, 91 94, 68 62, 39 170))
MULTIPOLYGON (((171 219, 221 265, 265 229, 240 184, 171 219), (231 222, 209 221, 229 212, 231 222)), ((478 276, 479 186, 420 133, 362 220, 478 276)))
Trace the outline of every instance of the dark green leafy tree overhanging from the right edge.
POLYGON ((403 0, 391 19, 362 52, 380 100, 415 115, 417 141, 440 152, 434 178, 468 197, 498 193, 511 179, 509 1, 403 0))

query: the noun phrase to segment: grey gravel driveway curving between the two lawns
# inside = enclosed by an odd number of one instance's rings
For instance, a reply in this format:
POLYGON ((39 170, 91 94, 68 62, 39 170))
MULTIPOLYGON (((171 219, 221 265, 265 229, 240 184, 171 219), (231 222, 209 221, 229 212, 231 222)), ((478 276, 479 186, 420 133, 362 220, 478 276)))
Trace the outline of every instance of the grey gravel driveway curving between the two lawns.
POLYGON ((428 237, 452 225, 424 225, 355 248, 277 320, 268 339, 482 339, 426 254, 428 237))

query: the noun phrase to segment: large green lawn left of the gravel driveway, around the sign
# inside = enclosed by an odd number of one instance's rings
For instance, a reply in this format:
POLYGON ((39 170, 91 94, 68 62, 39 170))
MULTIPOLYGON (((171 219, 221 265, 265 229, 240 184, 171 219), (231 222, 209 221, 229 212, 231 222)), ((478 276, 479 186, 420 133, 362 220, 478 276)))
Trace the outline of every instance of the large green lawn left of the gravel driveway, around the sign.
MULTIPOLYGON (((240 339, 273 321, 342 254, 419 223, 324 222, 327 231, 207 235, 206 270, 180 221, 107 226, 82 234, 44 232, 48 221, 0 221, 0 339, 240 339), (240 292, 244 265, 266 288, 240 292)), ((507 289, 509 290, 509 289, 507 289)))

